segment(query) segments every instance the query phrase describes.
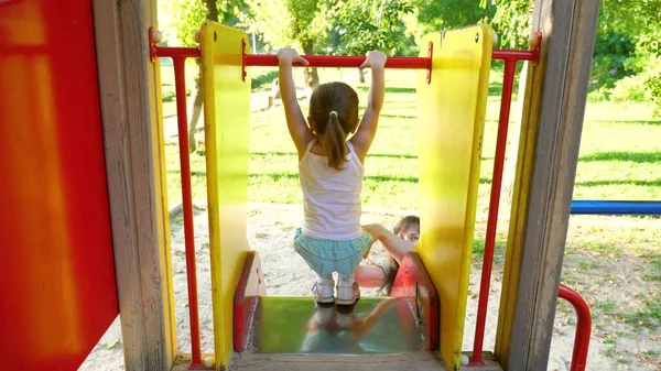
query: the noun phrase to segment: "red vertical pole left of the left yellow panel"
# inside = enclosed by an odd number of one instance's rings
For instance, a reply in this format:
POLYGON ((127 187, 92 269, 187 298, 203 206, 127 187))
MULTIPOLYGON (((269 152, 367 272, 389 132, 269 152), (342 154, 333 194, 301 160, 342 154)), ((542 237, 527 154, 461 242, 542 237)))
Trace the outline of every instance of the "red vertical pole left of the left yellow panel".
POLYGON ((186 247, 186 274, 188 283, 188 312, 191 316, 192 361, 189 369, 202 367, 199 346, 199 315, 197 305, 197 270, 195 266, 195 233, 193 230, 193 196, 191 190, 191 159, 188 157, 188 118, 186 117, 185 56, 172 56, 176 92, 176 121, 178 128, 182 177, 182 206, 184 211, 184 240, 186 247))

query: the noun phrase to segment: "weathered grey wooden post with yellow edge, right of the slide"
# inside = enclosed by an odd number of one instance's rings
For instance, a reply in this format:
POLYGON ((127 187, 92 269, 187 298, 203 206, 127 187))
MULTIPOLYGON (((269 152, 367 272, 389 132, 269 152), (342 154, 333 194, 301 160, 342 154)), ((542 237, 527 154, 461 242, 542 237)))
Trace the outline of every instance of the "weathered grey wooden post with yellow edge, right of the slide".
POLYGON ((496 356, 545 370, 581 144, 598 0, 537 0, 540 64, 525 87, 496 356))

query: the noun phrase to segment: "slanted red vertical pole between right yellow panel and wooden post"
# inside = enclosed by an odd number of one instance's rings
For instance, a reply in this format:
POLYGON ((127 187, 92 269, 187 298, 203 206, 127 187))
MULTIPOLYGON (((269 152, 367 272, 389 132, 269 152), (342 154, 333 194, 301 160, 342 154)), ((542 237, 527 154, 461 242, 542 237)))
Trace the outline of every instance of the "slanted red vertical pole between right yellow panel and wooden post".
POLYGON ((494 263, 494 245, 496 243, 496 227, 498 226, 498 207, 500 204, 500 187, 502 183, 502 165, 505 163, 505 148, 507 145, 507 127, 512 103, 512 88, 514 85, 516 61, 505 61, 505 75, 502 77, 502 95, 500 97, 500 118, 498 119, 498 139, 496 141, 496 159, 494 161, 494 179, 491 182, 491 198, 489 200, 489 219, 487 220, 487 237, 485 241, 485 258, 477 303, 477 319, 475 326, 475 341, 473 345, 473 359, 470 365, 484 365, 483 346, 485 338, 485 324, 487 320, 487 304, 489 302, 489 286, 491 281, 491 265, 494 263))

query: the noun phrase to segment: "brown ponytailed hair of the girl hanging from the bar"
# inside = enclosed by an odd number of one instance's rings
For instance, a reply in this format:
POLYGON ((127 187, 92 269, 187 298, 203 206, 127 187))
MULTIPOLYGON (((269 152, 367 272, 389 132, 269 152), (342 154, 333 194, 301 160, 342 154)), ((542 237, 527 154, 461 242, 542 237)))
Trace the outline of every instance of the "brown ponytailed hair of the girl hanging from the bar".
POLYGON ((319 85, 310 98, 310 118, 328 156, 328 166, 342 170, 347 156, 345 141, 358 122, 358 95, 345 83, 319 85), (337 114, 330 114, 334 111, 337 114))

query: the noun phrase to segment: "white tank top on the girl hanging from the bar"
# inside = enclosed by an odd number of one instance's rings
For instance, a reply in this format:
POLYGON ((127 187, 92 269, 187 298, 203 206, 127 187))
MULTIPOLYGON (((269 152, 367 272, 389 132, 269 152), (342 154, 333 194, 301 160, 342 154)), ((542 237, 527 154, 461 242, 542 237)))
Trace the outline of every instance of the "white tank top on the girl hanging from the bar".
POLYGON ((350 142, 349 154, 342 170, 328 166, 328 159, 310 152, 307 143, 299 162, 305 220, 303 234, 322 240, 345 241, 359 238, 360 193, 365 168, 350 142))

